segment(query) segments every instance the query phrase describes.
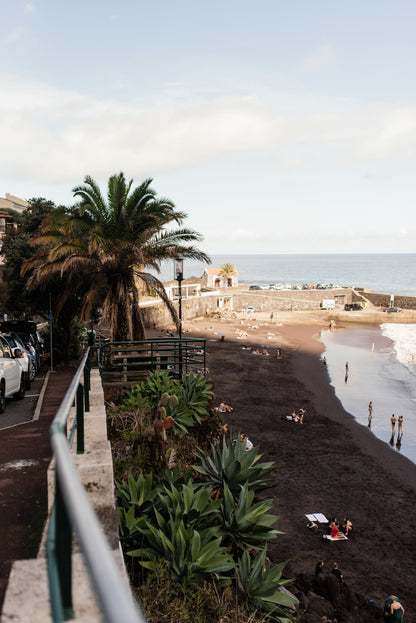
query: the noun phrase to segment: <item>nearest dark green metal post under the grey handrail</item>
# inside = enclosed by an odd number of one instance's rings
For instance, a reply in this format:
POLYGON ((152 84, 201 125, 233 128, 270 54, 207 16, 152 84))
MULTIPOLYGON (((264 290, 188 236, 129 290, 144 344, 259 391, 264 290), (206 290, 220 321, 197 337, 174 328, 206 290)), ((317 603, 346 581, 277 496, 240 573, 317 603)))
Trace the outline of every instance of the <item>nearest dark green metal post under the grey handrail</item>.
POLYGON ((59 477, 55 479, 55 547, 63 620, 73 618, 72 610, 72 529, 62 497, 59 477))

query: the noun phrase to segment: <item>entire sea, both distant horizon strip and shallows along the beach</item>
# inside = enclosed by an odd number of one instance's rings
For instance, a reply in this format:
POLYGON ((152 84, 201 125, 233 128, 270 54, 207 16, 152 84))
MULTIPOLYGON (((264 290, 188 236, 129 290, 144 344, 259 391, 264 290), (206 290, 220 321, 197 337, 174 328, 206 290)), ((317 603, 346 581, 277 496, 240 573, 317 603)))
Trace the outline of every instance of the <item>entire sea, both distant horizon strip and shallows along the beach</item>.
MULTIPOLYGON (((212 255, 212 266, 231 263, 241 284, 332 284, 373 292, 416 296, 416 254, 351 255, 212 255)), ((184 261, 184 277, 201 277, 205 265, 184 261)), ((162 265, 159 278, 173 279, 173 262, 162 265)), ((323 330, 328 373, 346 411, 416 463, 416 325, 383 324, 323 330), (349 374, 345 382, 345 363, 349 374), (399 439, 392 438, 390 417, 404 417, 399 439)))

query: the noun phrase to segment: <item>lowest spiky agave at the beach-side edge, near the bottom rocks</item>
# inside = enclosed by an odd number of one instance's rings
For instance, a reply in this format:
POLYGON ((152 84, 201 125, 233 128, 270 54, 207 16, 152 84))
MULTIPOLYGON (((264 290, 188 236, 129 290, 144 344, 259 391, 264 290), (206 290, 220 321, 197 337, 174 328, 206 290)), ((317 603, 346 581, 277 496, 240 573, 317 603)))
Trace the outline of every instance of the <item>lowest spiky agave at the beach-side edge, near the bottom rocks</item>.
POLYGON ((266 558, 266 547, 257 554, 251 564, 250 554, 244 551, 236 567, 237 586, 243 601, 252 608, 268 612, 268 619, 279 623, 291 623, 293 617, 283 608, 293 608, 297 599, 281 590, 292 580, 282 579, 286 563, 271 566, 266 558))

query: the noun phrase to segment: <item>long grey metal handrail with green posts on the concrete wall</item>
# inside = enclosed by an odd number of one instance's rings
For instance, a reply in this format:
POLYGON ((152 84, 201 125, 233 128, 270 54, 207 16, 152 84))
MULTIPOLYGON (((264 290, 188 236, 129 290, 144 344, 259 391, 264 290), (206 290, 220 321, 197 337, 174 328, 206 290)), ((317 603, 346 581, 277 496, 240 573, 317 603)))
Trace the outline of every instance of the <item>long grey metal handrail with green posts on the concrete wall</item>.
POLYGON ((71 575, 72 531, 74 531, 105 620, 108 623, 145 623, 146 619, 133 600, 129 586, 122 579, 120 569, 81 484, 66 438, 69 412, 74 402, 77 407, 79 406, 79 388, 82 387, 84 370, 87 374, 84 377, 83 390, 89 391, 88 362, 89 349, 50 428, 56 462, 55 503, 46 542, 52 617, 55 623, 73 618, 71 575))

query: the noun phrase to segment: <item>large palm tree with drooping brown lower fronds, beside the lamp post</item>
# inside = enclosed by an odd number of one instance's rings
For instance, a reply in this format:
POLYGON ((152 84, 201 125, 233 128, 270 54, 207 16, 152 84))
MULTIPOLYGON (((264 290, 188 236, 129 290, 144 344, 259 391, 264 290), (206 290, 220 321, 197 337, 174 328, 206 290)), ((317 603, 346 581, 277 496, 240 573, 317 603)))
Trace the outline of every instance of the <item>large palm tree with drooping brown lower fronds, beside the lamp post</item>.
MULTIPOLYGON (((144 339, 145 329, 139 298, 156 293, 178 325, 176 310, 168 299, 163 284, 146 272, 160 271, 162 260, 181 256, 210 263, 208 256, 190 242, 202 236, 187 228, 168 231, 174 222, 181 225, 184 212, 172 201, 156 198, 146 179, 132 189, 124 174, 108 181, 107 199, 89 176, 84 185, 73 189, 79 202, 70 208, 54 210, 33 244, 37 251, 27 260, 23 271, 31 271, 29 287, 46 285, 57 273, 67 280, 66 295, 83 285, 85 294, 80 317, 88 320, 97 307, 109 321, 111 339, 144 339)), ((55 314, 66 296, 61 297, 55 314)))

